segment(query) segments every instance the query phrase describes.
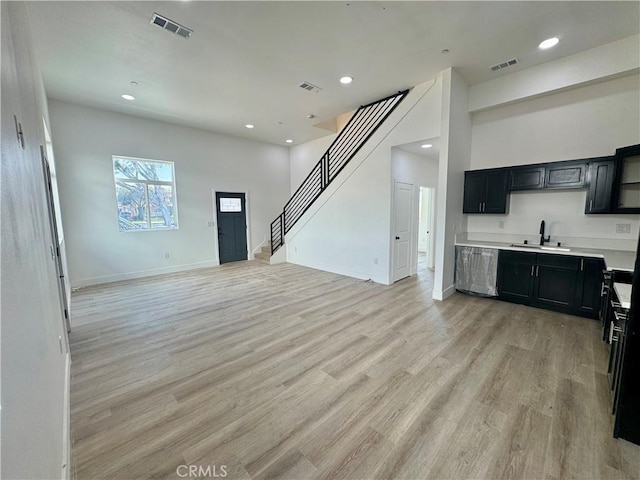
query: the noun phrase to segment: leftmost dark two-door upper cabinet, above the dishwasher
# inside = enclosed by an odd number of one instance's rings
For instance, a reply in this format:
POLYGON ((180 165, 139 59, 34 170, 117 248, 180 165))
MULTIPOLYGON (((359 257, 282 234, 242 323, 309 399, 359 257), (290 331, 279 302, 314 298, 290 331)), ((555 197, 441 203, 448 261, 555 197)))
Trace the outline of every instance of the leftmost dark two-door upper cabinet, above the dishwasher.
POLYGON ((464 172, 462 213, 506 213, 507 171, 464 172))

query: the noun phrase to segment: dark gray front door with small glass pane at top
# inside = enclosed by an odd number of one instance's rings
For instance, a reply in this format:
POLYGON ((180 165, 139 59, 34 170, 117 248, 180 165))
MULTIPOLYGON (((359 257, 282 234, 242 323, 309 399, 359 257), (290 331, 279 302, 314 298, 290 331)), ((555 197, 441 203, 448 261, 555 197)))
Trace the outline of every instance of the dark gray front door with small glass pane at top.
POLYGON ((220 263, 247 259, 247 215, 244 193, 216 192, 220 263))

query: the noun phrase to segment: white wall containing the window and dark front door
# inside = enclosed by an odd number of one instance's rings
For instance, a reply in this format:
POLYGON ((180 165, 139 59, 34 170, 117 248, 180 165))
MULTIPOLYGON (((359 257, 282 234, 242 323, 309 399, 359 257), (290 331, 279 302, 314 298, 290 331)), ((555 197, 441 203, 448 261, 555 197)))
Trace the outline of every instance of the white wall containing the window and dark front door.
POLYGON ((217 264, 213 190, 249 193, 249 251, 288 198, 286 147, 56 100, 49 108, 74 286, 217 264), (112 155, 175 162, 178 230, 118 230, 112 155))

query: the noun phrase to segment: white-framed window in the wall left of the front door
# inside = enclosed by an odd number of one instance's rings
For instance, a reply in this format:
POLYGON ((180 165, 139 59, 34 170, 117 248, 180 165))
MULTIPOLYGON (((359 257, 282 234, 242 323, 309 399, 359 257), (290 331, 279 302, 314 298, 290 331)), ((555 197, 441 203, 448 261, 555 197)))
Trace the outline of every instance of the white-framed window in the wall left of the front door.
POLYGON ((113 156, 121 232, 178 228, 173 162, 113 156))

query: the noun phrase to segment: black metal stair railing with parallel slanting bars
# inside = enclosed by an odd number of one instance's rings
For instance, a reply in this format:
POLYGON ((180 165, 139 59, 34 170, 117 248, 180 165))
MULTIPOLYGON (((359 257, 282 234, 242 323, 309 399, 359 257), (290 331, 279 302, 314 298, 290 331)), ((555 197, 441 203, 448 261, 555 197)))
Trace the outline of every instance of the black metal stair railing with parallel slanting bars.
POLYGON ((271 255, 284 245, 287 232, 300 220, 408 93, 409 90, 398 92, 363 105, 356 111, 285 204, 282 213, 271 222, 271 255))

